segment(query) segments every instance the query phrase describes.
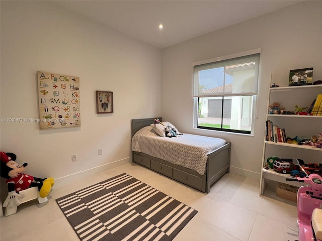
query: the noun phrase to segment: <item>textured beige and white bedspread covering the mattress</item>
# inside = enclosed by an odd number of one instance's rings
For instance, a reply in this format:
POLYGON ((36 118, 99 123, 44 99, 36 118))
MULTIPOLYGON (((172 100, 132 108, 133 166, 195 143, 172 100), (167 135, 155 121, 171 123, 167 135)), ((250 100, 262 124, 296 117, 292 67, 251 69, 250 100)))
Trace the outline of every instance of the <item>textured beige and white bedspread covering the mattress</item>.
POLYGON ((132 138, 132 151, 142 152, 197 171, 206 171, 208 153, 225 145, 220 138, 183 134, 181 137, 160 137, 148 126, 132 138))

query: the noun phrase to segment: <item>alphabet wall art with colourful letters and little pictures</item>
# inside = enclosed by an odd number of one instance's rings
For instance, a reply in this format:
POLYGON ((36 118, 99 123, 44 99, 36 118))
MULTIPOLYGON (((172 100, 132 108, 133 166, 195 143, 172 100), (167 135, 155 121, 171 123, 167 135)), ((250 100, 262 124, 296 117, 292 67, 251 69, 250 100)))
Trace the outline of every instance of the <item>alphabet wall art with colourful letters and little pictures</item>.
POLYGON ((79 77, 37 72, 40 129, 81 126, 79 77))

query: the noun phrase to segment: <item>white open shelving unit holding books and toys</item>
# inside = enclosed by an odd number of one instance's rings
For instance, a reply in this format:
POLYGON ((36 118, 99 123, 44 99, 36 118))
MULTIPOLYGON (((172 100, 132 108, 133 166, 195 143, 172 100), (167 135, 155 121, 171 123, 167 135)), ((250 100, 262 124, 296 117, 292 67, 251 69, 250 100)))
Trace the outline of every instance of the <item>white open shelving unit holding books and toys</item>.
MULTIPOLYGON (((279 102, 280 106, 285 107, 285 110, 288 111, 294 111, 295 105, 309 107, 318 94, 322 94, 322 85, 270 88, 267 112, 269 105, 273 102, 279 102)), ((284 128, 286 136, 292 138, 296 136, 311 137, 317 133, 322 133, 321 115, 267 114, 266 119, 273 122, 274 126, 284 128)), ((290 176, 289 174, 282 174, 273 169, 266 170, 263 168, 267 159, 273 156, 279 158, 298 158, 304 160, 305 163, 322 163, 322 149, 320 148, 264 140, 260 195, 264 193, 267 180, 282 182, 293 186, 303 185, 303 183, 286 181, 286 178, 290 176)))

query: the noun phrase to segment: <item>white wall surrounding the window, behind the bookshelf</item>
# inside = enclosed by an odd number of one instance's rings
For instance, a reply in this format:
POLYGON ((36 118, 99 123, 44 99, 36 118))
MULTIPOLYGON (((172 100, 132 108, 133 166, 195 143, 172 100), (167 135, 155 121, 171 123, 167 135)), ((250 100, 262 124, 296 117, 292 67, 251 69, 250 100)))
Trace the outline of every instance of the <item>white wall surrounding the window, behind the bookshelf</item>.
POLYGON ((259 179, 271 74, 272 82, 287 86, 291 69, 313 67, 313 80, 322 79, 321 12, 321 1, 305 1, 164 49, 164 121, 172 122, 181 132, 231 142, 231 172, 259 179), (257 48, 262 49, 262 55, 255 136, 193 129, 192 63, 257 48))

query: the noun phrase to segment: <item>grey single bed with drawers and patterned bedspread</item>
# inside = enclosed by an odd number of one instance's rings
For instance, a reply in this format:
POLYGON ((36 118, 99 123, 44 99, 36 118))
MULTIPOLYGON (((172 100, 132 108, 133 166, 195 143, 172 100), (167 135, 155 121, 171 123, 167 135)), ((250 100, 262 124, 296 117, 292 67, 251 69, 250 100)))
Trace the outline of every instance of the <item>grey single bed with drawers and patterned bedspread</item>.
MULTIPOLYGON (((229 173, 230 143, 192 134, 161 137, 151 125, 154 119, 132 119, 133 162, 205 193, 229 173), (147 143, 149 146, 145 146, 147 143), (204 143, 207 146, 200 149, 204 143)), ((162 122, 162 117, 158 119, 162 122)))

